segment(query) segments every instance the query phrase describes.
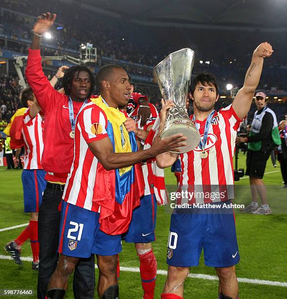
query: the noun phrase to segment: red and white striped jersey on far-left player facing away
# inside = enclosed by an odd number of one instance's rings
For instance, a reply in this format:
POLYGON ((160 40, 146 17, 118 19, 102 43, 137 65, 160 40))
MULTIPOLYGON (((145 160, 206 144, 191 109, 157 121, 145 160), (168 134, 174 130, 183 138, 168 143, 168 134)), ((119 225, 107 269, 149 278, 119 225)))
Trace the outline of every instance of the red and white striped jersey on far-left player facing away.
POLYGON ((44 120, 39 113, 31 118, 29 111, 28 108, 24 113, 21 131, 25 148, 24 169, 42 169, 44 120))

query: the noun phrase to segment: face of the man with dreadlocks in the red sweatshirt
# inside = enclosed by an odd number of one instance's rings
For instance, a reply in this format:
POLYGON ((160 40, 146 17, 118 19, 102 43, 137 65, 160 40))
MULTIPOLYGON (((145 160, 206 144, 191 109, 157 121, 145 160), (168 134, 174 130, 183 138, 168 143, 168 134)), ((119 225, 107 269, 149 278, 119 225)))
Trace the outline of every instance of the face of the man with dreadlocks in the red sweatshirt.
POLYGON ((71 82, 70 95, 74 100, 84 101, 90 93, 91 80, 86 71, 75 72, 71 82))

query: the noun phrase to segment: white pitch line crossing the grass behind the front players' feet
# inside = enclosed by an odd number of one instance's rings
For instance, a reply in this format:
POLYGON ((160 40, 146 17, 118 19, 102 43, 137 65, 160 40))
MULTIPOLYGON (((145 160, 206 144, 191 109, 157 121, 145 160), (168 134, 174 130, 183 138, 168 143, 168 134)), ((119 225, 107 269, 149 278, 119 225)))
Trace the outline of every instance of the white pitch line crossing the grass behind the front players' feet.
MULTIPOLYGON (((12 257, 11 256, 0 255, 0 259, 12 259, 12 257)), ((21 260, 31 262, 31 261, 33 261, 33 258, 28 257, 28 256, 21 256, 21 260)), ((98 269, 98 266, 95 265, 95 268, 98 269)), ((125 271, 125 272, 133 272, 133 273, 139 273, 140 272, 140 268, 138 268, 138 267, 123 267, 123 266, 121 266, 120 270, 125 271)), ((157 274, 167 276, 167 271, 166 270, 158 270, 157 274)), ((218 280, 217 276, 215 276, 215 275, 206 275, 206 274, 190 273, 190 274, 188 274, 188 277, 189 278, 205 279, 205 280, 218 280)), ((238 279, 239 282, 244 282, 244 283, 287 287, 287 282, 282 282, 282 281, 251 279, 251 278, 237 278, 237 279, 238 279)))

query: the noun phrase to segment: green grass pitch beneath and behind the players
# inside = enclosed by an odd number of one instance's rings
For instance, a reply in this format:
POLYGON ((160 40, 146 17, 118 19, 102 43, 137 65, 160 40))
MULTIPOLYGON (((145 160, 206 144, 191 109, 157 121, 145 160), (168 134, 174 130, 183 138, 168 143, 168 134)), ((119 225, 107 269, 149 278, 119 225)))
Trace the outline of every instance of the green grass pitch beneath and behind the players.
MULTIPOLYGON (((245 168, 246 156, 240 154, 239 167, 245 168)), ((287 192, 280 189, 282 177, 279 168, 273 168, 271 161, 267 162, 266 183, 271 215, 251 215, 236 212, 236 227, 241 261, 236 266, 238 278, 252 278, 260 280, 287 282, 287 192), (271 173, 269 173, 271 172, 271 173)), ((175 177, 169 169, 165 172, 166 184, 175 184, 175 177)), ((236 182, 236 203, 248 204, 250 202, 248 178, 236 182)), ((21 184, 21 171, 7 171, 0 168, 0 229, 28 222, 29 215, 23 213, 23 195, 21 184)), ((158 208, 156 235, 153 244, 158 261, 158 269, 167 270, 165 263, 166 244, 169 230, 169 213, 165 207, 158 208)), ((19 267, 12 260, 4 259, 7 256, 3 246, 14 239, 23 228, 0 232, 0 289, 33 289, 36 298, 37 273, 32 271, 31 262, 24 261, 19 267)), ((22 256, 31 257, 29 242, 22 246, 22 256)), ((123 242, 123 251, 120 254, 120 263, 124 267, 139 267, 139 260, 133 244, 123 242)), ((205 267, 203 256, 200 266, 190 269, 190 273, 215 275, 213 268, 205 267)), ((98 278, 98 270, 96 270, 98 278)), ((72 299, 72 279, 70 278, 66 298, 72 299)), ((156 296, 160 298, 164 286, 165 276, 159 274, 156 283, 156 296)), ((142 298, 140 274, 121 271, 119 280, 120 298, 142 298)), ((203 278, 187 278, 185 281, 186 299, 216 299, 218 281, 203 278)), ((240 298, 244 299, 274 299, 287 298, 287 287, 276 285, 261 285, 256 283, 239 282, 240 298)), ((1 297, 0 298, 6 298, 1 297)), ((14 298, 21 298, 15 296, 14 298)), ((98 298, 95 295, 95 298, 98 298)))

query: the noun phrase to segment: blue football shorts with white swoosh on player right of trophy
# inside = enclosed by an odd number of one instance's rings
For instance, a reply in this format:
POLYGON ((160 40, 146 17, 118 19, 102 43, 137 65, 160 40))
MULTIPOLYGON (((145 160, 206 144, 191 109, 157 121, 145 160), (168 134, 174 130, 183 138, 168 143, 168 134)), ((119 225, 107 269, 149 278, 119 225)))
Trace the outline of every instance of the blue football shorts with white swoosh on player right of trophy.
MULTIPOLYGON (((230 204, 231 201, 216 204, 230 204)), ((205 265, 229 267, 239 262, 233 209, 197 209, 172 214, 167 245, 167 264, 198 266, 204 250, 205 265), (198 213, 198 210, 203 210, 198 213), (221 213, 223 211, 223 213, 221 213)))

